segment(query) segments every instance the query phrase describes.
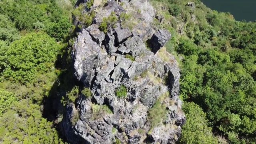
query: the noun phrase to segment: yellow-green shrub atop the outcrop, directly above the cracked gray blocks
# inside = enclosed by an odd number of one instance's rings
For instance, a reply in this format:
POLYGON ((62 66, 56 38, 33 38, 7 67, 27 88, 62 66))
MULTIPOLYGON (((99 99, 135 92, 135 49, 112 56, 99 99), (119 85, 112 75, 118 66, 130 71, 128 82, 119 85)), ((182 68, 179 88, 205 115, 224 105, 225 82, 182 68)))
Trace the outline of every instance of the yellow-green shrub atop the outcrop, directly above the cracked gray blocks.
POLYGON ((112 28, 116 27, 115 24, 116 24, 117 20, 118 19, 116 17, 115 12, 111 12, 111 14, 108 17, 103 18, 103 20, 99 26, 100 31, 106 33, 108 26, 110 26, 112 28))

